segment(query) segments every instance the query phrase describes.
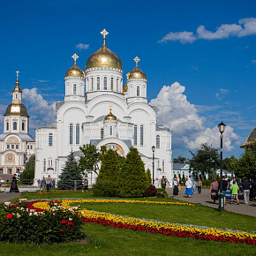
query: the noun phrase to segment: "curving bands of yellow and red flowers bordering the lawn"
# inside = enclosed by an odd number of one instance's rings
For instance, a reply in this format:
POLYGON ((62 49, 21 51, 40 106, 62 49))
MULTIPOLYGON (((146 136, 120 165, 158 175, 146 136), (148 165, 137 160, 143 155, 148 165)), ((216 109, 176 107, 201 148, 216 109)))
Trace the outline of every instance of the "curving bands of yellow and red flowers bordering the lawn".
MULTIPOLYGON (((160 205, 183 205, 194 206, 186 203, 172 203, 162 201, 139 201, 139 200, 61 200, 59 202, 63 207, 70 207, 72 203, 146 203, 160 205)), ((29 203, 35 209, 47 210, 49 208, 48 201, 34 201, 29 203)), ((72 208, 70 208, 72 209, 72 208)), ((215 240, 231 243, 243 243, 248 245, 256 245, 256 234, 243 231, 219 230, 215 228, 197 227, 192 225, 184 225, 168 222, 156 222, 152 220, 141 220, 120 215, 111 215, 109 213, 100 213, 81 209, 79 215, 82 215, 83 222, 95 222, 105 226, 111 226, 119 229, 142 230, 150 233, 161 233, 166 236, 177 237, 193 237, 202 240, 215 240)))

